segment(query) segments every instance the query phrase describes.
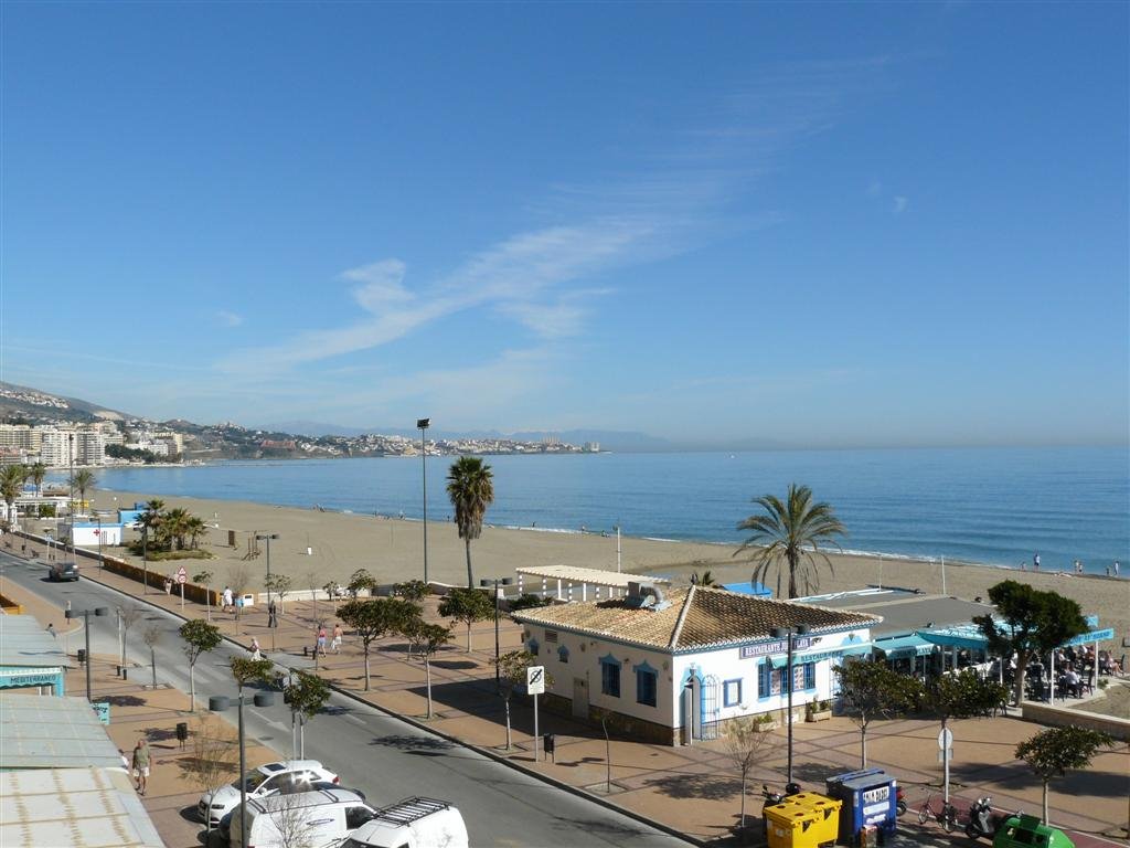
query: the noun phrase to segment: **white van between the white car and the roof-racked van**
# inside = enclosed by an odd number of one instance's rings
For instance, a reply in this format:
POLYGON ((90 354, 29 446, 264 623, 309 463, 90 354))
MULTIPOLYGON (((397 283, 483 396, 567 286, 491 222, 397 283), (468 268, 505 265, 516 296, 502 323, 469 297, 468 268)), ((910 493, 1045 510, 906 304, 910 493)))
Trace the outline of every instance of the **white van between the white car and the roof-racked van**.
MULTIPOLYGON (((337 846, 376 815, 373 807, 349 789, 318 789, 294 795, 247 799, 247 848, 310 848, 337 846)), ((240 807, 232 811, 228 843, 240 848, 240 807)))

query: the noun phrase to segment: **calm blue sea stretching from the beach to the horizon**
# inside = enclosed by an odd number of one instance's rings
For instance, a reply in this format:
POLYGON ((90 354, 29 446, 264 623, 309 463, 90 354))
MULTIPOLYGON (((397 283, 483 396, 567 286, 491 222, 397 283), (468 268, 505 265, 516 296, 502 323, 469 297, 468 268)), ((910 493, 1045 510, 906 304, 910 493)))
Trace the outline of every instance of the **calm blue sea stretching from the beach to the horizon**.
MULTIPOLYGON (((601 453, 488 457, 494 525, 734 543, 750 499, 807 484, 847 527, 844 547, 1093 572, 1130 566, 1130 451, 1102 448, 601 453)), ((429 457, 428 518, 451 513, 429 457)), ((99 487, 353 512, 421 514, 420 460, 226 462, 98 471, 99 487)))

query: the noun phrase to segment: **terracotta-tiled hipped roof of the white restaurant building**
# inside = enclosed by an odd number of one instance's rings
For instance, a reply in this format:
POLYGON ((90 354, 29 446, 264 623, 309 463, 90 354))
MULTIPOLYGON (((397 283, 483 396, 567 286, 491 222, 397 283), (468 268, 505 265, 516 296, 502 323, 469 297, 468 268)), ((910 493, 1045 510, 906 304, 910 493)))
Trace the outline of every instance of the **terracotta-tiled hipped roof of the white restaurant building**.
POLYGON ((819 634, 873 628, 879 616, 811 604, 771 600, 702 586, 664 590, 670 606, 636 608, 624 598, 566 604, 514 613, 520 622, 610 637, 649 648, 684 652, 770 639, 774 628, 807 624, 819 634))

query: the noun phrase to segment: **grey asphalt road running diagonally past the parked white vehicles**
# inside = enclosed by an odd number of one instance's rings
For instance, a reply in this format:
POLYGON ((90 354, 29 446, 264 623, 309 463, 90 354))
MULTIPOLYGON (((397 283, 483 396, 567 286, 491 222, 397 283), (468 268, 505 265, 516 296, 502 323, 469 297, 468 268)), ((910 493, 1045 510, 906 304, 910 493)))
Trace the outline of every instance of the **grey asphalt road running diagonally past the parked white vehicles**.
MULTIPOLYGON (((111 615, 92 615, 89 620, 90 647, 95 654, 116 655, 118 625, 113 611, 140 604, 88 580, 49 582, 43 565, 3 553, 0 553, 0 572, 3 580, 59 605, 70 600, 73 609, 110 607, 111 615)), ((183 621, 156 607, 146 609, 144 620, 129 631, 127 658, 148 666, 149 648, 142 641, 142 633, 158 628, 162 637, 156 646, 157 680, 188 692, 188 664, 177 635, 183 621)), ((75 639, 71 638, 71 651, 81 647, 75 639)), ((232 656, 246 652, 225 642, 197 664, 198 699, 236 694, 227 667, 232 656)), ((137 668, 132 673, 148 680, 149 669, 137 668)), ((234 711, 229 720, 234 724, 234 711)), ((262 710, 246 707, 244 721, 249 738, 289 753, 290 711, 281 696, 276 698, 273 707, 262 710)), ((306 726, 306 756, 321 760, 338 772, 344 785, 362 789, 373 805, 391 804, 411 795, 454 803, 467 821, 475 846, 688 845, 339 694, 330 699, 324 715, 306 726)))

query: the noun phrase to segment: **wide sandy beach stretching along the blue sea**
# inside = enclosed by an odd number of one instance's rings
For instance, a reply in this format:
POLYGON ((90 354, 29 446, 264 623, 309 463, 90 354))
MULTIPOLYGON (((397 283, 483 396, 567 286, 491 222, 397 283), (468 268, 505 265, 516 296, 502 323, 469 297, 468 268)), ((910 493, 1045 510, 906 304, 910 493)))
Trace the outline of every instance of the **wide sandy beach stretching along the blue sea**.
MULTIPOLYGON (((132 504, 153 495, 134 492, 103 492, 95 495, 95 508, 110 510, 116 503, 132 504)), ((167 508, 181 507, 203 518, 209 534, 202 547, 215 555, 208 568, 218 583, 225 582, 233 568, 245 566, 251 587, 261 589, 266 555, 246 560, 249 539, 257 533, 278 534, 271 543, 271 570, 289 574, 294 588, 321 587, 330 580, 346 582, 356 569, 366 568, 382 582, 399 582, 423 576, 423 523, 398 518, 356 513, 322 512, 271 507, 240 501, 194 497, 163 497, 167 508), (228 545, 229 531, 235 546, 228 545), (308 553, 307 553, 308 552, 308 553)), ((428 570, 433 580, 463 583, 467 564, 463 542, 455 525, 428 521, 428 570)), ((489 520, 489 513, 487 514, 489 520)), ((260 543, 262 545, 262 543, 260 543)), ((660 542, 623 537, 621 570, 660 574, 686 581, 692 572, 709 569, 719 582, 748 580, 750 566, 733 547, 704 543, 660 542)), ((114 551, 115 554, 121 553, 114 551)), ((133 557, 140 559, 140 557, 133 557)), ((616 570, 616 538, 599 534, 551 530, 504 529, 486 526, 483 537, 471 544, 475 579, 512 577, 514 569, 539 565, 575 565, 616 570)), ((820 591, 842 591, 885 585, 941 592, 938 563, 907 559, 833 555, 834 572, 820 571, 820 591)), ((190 561, 189 570, 199 561, 190 561)), ((158 563, 157 568, 162 564, 158 563)), ((200 563, 202 568, 203 564, 200 563)), ((168 565, 169 572, 176 565, 168 565)), ((1113 628, 1115 646, 1130 637, 1130 579, 1102 576, 1076 577, 1048 572, 1020 571, 985 565, 946 563, 946 591, 974 598, 988 594, 990 586, 1005 579, 1024 580, 1040 589, 1051 589, 1074 598, 1084 614, 1098 615, 1099 624, 1113 628)), ((1116 652, 1123 649, 1118 648, 1116 652)))

